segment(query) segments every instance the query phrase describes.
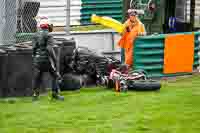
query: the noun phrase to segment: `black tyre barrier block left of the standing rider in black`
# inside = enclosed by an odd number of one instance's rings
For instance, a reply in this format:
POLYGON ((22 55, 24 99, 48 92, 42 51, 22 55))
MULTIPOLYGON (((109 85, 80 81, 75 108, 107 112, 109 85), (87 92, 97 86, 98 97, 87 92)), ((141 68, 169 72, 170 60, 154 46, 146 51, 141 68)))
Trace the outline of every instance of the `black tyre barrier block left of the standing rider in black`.
POLYGON ((18 47, 1 49, 7 54, 2 74, 4 83, 0 86, 1 97, 30 96, 32 94, 32 49, 18 47))

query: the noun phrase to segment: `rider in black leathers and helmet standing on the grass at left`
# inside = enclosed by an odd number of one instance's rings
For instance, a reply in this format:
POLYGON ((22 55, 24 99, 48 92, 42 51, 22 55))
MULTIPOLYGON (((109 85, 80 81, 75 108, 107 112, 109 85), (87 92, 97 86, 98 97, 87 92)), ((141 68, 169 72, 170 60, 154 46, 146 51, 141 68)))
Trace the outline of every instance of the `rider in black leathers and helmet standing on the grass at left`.
POLYGON ((44 72, 49 72, 52 77, 52 98, 64 100, 59 95, 60 74, 56 71, 56 57, 53 50, 53 36, 49 35, 51 27, 48 24, 41 24, 40 31, 33 37, 33 65, 36 70, 33 81, 33 100, 39 97, 39 87, 44 72))

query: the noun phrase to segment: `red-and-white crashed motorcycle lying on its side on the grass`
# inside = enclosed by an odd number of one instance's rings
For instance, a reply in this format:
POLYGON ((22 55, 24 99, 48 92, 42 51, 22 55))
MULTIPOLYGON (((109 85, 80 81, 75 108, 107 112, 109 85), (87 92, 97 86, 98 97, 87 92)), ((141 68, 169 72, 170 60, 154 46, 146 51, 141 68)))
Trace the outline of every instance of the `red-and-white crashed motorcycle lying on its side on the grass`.
MULTIPOLYGON (((161 83, 151 80, 143 70, 120 71, 113 69, 109 77, 110 84, 117 92, 135 91, 156 91, 160 90, 161 83)), ((110 87, 110 86, 109 86, 110 87)))

